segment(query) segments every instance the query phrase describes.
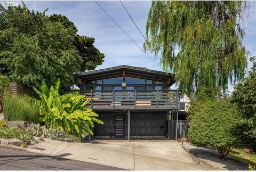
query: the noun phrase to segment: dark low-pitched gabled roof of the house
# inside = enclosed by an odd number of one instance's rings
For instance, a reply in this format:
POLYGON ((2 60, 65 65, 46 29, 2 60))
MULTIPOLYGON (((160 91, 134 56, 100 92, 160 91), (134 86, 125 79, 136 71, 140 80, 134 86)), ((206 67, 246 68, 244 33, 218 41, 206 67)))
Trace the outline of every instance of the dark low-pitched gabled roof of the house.
POLYGON ((121 75, 123 74, 123 70, 125 74, 129 75, 137 75, 137 76, 145 76, 145 77, 152 77, 158 79, 171 79, 170 84, 174 83, 174 75, 172 73, 166 73, 163 71, 145 69, 140 67, 132 67, 130 65, 118 65, 116 67, 99 69, 99 70, 92 70, 81 72, 78 74, 78 78, 81 79, 90 79, 90 78, 97 78, 97 77, 106 77, 111 75, 121 75))

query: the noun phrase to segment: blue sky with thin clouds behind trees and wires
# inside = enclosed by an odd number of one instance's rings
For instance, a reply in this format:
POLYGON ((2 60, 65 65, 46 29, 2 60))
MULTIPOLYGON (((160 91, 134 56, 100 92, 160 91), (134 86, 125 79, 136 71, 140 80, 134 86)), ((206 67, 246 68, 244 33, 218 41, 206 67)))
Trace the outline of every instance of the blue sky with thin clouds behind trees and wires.
MULTIPOLYGON (((98 1, 98 3, 142 47, 144 38, 123 9, 122 4, 119 1, 98 1)), ((66 15, 70 21, 75 23, 79 35, 94 37, 94 45, 105 54, 105 62, 97 69, 126 64, 162 70, 161 66, 149 59, 94 1, 25 1, 25 4, 28 9, 41 12, 49 8, 47 15, 53 13, 66 15)), ((123 1, 123 4, 142 33, 145 34, 151 1, 123 1)), ((256 1, 250 1, 249 4, 250 13, 243 14, 244 17, 250 15, 243 21, 246 34, 244 45, 254 56, 256 55, 256 1)), ((148 54, 154 59, 153 54, 148 54)), ((159 60, 155 59, 155 61, 159 63, 159 60)), ((248 68, 251 67, 252 63, 249 62, 248 68)), ((231 86, 229 88, 230 91, 233 90, 231 86)))

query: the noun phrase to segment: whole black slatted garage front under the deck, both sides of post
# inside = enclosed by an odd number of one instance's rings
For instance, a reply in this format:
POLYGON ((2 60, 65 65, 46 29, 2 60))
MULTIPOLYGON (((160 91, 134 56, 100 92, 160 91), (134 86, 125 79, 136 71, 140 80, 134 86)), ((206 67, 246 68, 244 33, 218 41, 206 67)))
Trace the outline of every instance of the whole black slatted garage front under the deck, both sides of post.
MULTIPOLYGON (((127 136, 127 111, 105 111, 97 112, 99 119, 104 124, 95 124, 95 136, 114 136, 116 135, 116 117, 123 117, 124 135, 127 136)), ((167 120, 166 112, 150 111, 131 111, 130 136, 163 136, 167 133, 165 121, 167 120)))

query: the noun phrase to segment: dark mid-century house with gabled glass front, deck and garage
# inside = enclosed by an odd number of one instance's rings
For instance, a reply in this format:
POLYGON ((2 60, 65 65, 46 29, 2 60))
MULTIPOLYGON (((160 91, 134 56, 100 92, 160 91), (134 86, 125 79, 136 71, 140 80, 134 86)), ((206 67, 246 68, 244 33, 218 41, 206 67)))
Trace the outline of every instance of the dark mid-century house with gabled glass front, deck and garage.
POLYGON ((183 97, 170 89, 174 84, 171 73, 120 65, 82 72, 78 78, 80 93, 91 100, 88 107, 105 122, 95 124, 94 135, 87 136, 87 140, 173 138, 177 110, 179 120, 186 118, 186 105, 179 103, 183 97))

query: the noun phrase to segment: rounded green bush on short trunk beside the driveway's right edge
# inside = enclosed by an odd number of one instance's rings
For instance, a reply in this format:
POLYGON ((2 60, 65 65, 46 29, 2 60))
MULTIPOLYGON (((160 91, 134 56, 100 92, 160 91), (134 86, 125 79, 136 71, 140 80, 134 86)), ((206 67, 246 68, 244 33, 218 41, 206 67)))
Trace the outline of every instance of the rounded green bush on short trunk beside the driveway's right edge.
POLYGON ((239 146, 236 136, 238 116, 230 101, 194 101, 189 109, 188 137, 197 146, 211 145, 218 149, 221 159, 239 146))

